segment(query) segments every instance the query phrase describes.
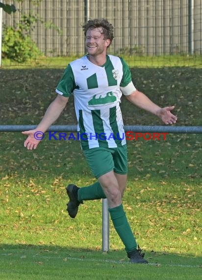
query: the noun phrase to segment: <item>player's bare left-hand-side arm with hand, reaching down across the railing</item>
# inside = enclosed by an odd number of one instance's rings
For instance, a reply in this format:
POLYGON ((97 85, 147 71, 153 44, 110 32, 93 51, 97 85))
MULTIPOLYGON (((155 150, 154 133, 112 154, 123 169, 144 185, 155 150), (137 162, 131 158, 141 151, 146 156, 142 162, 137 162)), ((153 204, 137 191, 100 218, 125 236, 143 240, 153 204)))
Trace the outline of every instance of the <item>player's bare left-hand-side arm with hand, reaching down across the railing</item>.
POLYGON ((27 150, 36 149, 40 140, 36 140, 34 138, 34 133, 37 131, 45 133, 51 126, 51 124, 58 119, 59 115, 64 110, 68 99, 68 97, 64 97, 58 94, 55 100, 53 100, 53 102, 49 105, 43 119, 41 120, 37 128, 22 132, 23 134, 28 135, 27 139, 24 142, 24 146, 25 148, 27 148, 27 150))

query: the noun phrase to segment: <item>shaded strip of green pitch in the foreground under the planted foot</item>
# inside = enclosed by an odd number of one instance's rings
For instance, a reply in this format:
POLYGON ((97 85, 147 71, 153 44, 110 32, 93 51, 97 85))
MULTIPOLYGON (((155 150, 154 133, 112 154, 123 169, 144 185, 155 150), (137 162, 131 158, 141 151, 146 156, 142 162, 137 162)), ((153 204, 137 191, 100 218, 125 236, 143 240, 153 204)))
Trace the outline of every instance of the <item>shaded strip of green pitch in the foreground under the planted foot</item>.
POLYGON ((0 260, 4 280, 200 280, 202 269, 200 258, 193 255, 151 252, 150 265, 131 265, 123 251, 103 254, 51 246, 4 246, 0 260))

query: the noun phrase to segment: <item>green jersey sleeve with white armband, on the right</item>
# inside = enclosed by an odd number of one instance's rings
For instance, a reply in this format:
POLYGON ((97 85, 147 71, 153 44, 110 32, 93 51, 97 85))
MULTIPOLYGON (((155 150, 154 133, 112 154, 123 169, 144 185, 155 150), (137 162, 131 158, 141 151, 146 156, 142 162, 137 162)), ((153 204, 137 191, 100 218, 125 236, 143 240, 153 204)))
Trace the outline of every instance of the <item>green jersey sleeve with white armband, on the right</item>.
POLYGON ((130 69, 126 61, 122 57, 120 57, 120 59, 123 65, 123 78, 121 80, 120 89, 124 95, 130 95, 136 88, 132 83, 130 69))

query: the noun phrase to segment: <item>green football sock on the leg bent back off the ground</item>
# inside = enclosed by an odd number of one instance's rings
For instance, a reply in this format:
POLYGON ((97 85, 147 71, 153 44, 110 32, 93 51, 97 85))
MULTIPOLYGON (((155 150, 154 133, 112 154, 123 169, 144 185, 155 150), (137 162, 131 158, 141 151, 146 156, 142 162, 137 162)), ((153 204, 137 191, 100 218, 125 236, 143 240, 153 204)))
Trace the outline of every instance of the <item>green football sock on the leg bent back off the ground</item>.
POLYGON ((106 198, 99 182, 78 190, 78 201, 106 198))

